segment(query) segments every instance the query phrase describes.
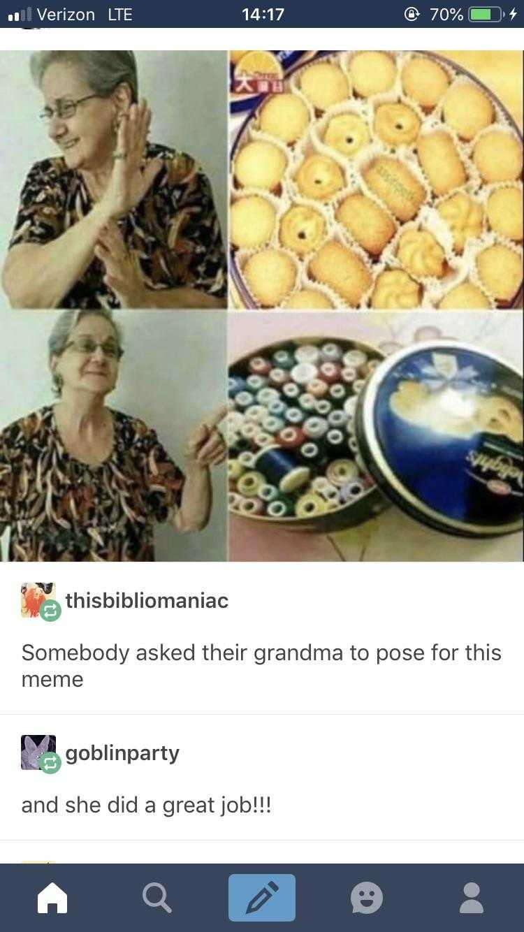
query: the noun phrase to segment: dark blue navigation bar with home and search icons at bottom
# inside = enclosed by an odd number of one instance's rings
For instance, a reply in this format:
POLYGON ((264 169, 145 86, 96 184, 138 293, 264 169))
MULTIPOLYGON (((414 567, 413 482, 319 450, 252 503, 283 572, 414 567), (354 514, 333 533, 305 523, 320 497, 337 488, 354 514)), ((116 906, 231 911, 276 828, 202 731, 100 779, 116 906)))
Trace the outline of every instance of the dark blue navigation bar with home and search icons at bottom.
POLYGON ((523 927, 524 867, 511 864, 8 865, 0 869, 2 927, 234 932, 244 925, 228 921, 228 875, 236 873, 267 874, 268 881, 271 874, 295 875, 296 921, 266 923, 269 932, 360 932, 362 925, 367 932, 517 932, 523 927), (383 894, 373 915, 352 911, 352 888, 364 881, 383 894), (36 912, 37 894, 51 882, 67 894, 67 916, 36 912), (145 905, 143 889, 153 882, 165 887, 171 914, 145 905), (463 893, 468 883, 480 887, 476 902, 484 909, 482 917, 460 912, 468 901, 463 893))

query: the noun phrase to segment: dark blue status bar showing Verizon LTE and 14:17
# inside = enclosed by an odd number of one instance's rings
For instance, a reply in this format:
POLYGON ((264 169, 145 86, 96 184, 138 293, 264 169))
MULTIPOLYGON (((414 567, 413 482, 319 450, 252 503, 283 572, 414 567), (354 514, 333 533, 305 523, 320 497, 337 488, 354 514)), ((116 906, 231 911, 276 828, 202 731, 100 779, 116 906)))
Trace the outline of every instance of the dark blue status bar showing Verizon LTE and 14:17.
MULTIPOLYGON (((111 0, 103 0, 103 2, 102 0, 85 0, 82 4, 78 4, 76 0, 70 3, 66 2, 66 0, 62 0, 62 2, 59 0, 57 3, 54 0, 54 2, 42 3, 40 6, 33 4, 32 25, 34 29, 122 28, 124 26, 140 29, 151 27, 180 29, 201 26, 206 28, 249 26, 252 29, 278 29, 281 27, 294 29, 302 27, 315 29, 320 27, 370 29, 373 27, 386 27, 388 29, 403 29, 406 31, 405 35, 407 35, 412 26, 452 29, 461 29, 462 27, 478 28, 479 32, 482 33, 487 28, 521 26, 524 21, 521 4, 516 4, 515 7, 507 4, 502 7, 504 13, 502 21, 472 23, 468 21, 468 6, 470 5, 461 6, 457 0, 453 0, 452 4, 445 7, 436 4, 434 0, 430 0, 429 3, 423 5, 415 0, 412 6, 409 0, 403 0, 400 3, 398 0, 394 3, 379 0, 379 2, 373 4, 360 3, 352 5, 340 3, 339 0, 323 0, 323 3, 320 4, 317 0, 278 0, 278 6, 274 7, 269 6, 269 4, 261 4, 256 7, 254 3, 248 3, 247 0, 236 0, 235 3, 228 0, 226 4, 216 4, 212 0, 200 0, 199 4, 165 3, 165 0, 147 0, 147 2, 138 0, 138 2, 132 3, 131 0, 119 0, 119 4, 122 6, 113 5, 111 0), (126 7, 126 3, 129 3, 130 6, 126 7), (245 14, 242 12, 246 7, 250 12, 258 9, 259 18, 255 19, 250 16, 246 19, 245 14), (284 12, 283 16, 278 19, 277 11, 281 7, 283 7, 284 12), (444 18, 439 15, 433 20, 434 13, 432 13, 431 7, 444 10, 454 9, 455 14, 444 13, 444 18), (42 20, 38 13, 38 11, 43 12, 47 9, 56 13, 60 11, 62 14, 64 8, 67 11, 66 15, 61 15, 61 19, 56 20, 49 18, 42 20), (407 8, 414 9, 419 15, 415 16, 413 14, 412 19, 409 19, 408 14, 406 15, 407 8), (119 13, 118 9, 120 9, 119 13), (131 18, 125 18, 124 9, 130 10, 129 16, 131 18), (517 10, 517 15, 512 19, 509 14, 513 9, 517 10), (72 16, 69 16, 69 11, 72 11, 72 16), (87 16, 88 12, 92 13, 93 16, 87 16), (76 16, 76 13, 79 15, 76 16)), ((477 6, 487 5, 478 4, 477 6)), ((1 0, 0 10, 1 25, 21 28, 20 22, 7 21, 7 13, 12 12, 10 0, 1 0)), ((234 40, 232 39, 232 41, 234 40)))

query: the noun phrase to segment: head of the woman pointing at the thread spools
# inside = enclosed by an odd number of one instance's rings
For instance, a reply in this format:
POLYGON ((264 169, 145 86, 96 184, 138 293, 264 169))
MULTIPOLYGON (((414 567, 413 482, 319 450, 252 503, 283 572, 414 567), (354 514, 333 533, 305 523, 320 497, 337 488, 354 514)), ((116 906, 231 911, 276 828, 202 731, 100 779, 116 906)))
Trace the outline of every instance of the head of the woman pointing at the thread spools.
POLYGON ((115 328, 98 315, 86 315, 68 336, 50 367, 63 392, 89 391, 106 395, 117 384, 120 349, 115 328))

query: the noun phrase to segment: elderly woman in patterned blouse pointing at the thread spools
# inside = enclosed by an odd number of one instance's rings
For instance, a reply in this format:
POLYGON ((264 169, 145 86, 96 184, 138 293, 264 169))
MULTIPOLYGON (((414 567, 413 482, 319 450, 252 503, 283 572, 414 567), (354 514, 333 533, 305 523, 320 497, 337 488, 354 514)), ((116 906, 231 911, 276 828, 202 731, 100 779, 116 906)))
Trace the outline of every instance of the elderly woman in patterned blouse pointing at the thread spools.
POLYGON ((184 476, 155 431, 104 404, 122 351, 111 311, 65 311, 56 322, 57 404, 0 432, 0 533, 11 529, 11 560, 153 560, 155 521, 206 526, 227 408, 187 438, 184 476))

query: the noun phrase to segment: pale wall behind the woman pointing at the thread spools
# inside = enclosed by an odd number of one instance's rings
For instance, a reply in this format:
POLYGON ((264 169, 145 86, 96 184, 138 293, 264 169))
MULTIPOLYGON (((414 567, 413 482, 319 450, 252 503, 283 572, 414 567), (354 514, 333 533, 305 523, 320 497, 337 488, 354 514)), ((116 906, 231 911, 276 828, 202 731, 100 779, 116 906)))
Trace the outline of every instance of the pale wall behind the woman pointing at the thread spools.
MULTIPOLYGON (((109 407, 143 418, 181 466, 186 432, 226 396, 225 311, 117 311, 124 336, 116 391, 109 407)), ((48 336, 56 311, 4 311, 1 315, 0 428, 52 404, 48 336)), ((216 468, 209 526, 178 534, 158 525, 157 560, 226 558, 226 469, 216 468)), ((7 535, 2 552, 7 558, 7 535)))

